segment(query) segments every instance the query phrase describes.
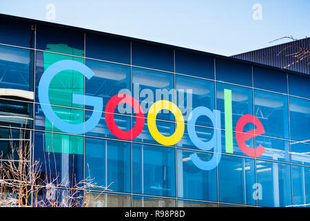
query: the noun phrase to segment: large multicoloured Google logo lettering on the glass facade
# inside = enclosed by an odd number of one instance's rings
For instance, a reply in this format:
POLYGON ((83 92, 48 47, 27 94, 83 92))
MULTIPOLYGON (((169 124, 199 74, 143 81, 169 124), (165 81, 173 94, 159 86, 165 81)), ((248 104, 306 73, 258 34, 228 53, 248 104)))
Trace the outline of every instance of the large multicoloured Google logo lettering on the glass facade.
MULTIPOLYGON (((63 70, 76 70, 79 73, 82 73, 87 79, 90 79, 94 76, 94 72, 85 66, 84 64, 78 61, 72 60, 62 60, 57 61, 56 63, 49 66, 45 72, 43 73, 41 80, 39 82, 38 94, 39 94, 39 102, 41 103, 41 108, 45 117, 48 118, 50 122, 59 128, 59 130, 65 133, 72 134, 82 134, 91 131, 96 125, 99 123, 101 119, 101 111, 103 110, 103 99, 101 97, 93 97, 87 95, 79 95, 72 94, 72 103, 73 104, 82 104, 85 106, 93 106, 94 111, 87 121, 81 124, 70 124, 68 122, 64 122, 60 119, 56 113, 52 110, 52 106, 50 106, 50 99, 48 96, 48 88, 50 87, 50 82, 53 77, 63 71, 63 70)), ((232 111, 231 111, 231 90, 224 90, 224 100, 225 100, 225 151, 226 153, 234 153, 233 150, 233 128, 232 128, 232 111)), ((199 106, 194 108, 192 113, 189 114, 187 119, 187 132, 189 134, 189 138, 192 143, 203 151, 209 151, 214 148, 214 154, 211 160, 203 161, 200 160, 196 153, 193 153, 189 157, 192 162, 202 170, 211 170, 218 166, 221 157, 221 133, 220 129, 214 130, 214 135, 211 137, 211 140, 208 142, 204 142, 200 140, 196 133, 196 120, 200 116, 209 117, 214 128, 220 128, 220 111, 213 110, 211 111, 209 108, 205 106, 199 106)), ((132 140, 143 131, 143 127, 145 125, 145 113, 143 112, 143 108, 139 104, 139 102, 132 96, 126 94, 118 94, 111 97, 111 99, 107 102, 105 108, 105 121, 107 127, 111 131, 113 135, 118 137, 121 140, 132 140), (134 109, 134 113, 136 114, 136 124, 130 131, 123 131, 115 123, 114 120, 114 111, 118 104, 129 104, 134 109)), ((149 128, 149 133, 151 133, 154 140, 159 144, 165 146, 172 146, 178 143, 183 137, 185 131, 185 121, 183 114, 176 104, 169 102, 167 100, 159 100, 152 104, 147 113, 147 126, 149 128), (156 127, 156 116, 159 111, 163 109, 167 109, 170 111, 175 119, 176 119, 176 129, 174 133, 170 136, 164 136, 156 127)), ((260 120, 254 115, 242 115, 236 124, 236 140, 238 146, 241 151, 250 157, 258 157, 265 152, 265 148, 260 144, 256 148, 249 148, 247 144, 245 144, 246 140, 249 140, 253 137, 261 135, 265 133, 265 129, 262 126, 260 120), (247 131, 243 133, 243 128, 246 124, 254 124, 256 128, 251 131, 247 131)))

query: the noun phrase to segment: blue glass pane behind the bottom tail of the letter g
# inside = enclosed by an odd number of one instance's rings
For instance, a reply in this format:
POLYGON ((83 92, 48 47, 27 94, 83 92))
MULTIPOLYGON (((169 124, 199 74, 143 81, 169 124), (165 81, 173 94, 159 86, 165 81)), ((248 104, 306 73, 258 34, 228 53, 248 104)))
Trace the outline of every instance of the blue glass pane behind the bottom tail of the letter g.
MULTIPOLYGON (((203 171, 192 162, 192 151, 176 151, 178 176, 178 198, 217 201, 216 168, 203 171)), ((207 159, 213 153, 197 153, 200 159, 207 159)), ((207 161, 207 160, 206 160, 207 161)))

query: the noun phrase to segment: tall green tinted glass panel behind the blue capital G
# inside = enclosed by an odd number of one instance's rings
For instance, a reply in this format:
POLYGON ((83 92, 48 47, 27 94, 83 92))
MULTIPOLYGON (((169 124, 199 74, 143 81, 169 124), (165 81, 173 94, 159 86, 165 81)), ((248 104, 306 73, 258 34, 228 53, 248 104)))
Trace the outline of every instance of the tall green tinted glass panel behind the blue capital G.
MULTIPOLYGON (((61 48, 62 52, 72 52, 72 48, 64 45, 48 45, 50 50, 55 50, 55 47, 61 48)), ((83 56, 83 50, 74 49, 78 55, 83 56)), ((80 57, 70 57, 68 55, 59 55, 50 52, 43 52, 44 58, 44 70, 46 70, 50 65, 54 64, 56 61, 61 61, 64 59, 70 59, 74 61, 84 62, 83 58, 80 57)), ((54 112, 59 116, 64 122, 69 122, 71 124, 80 124, 84 121, 84 111, 74 108, 83 108, 81 104, 72 104, 72 94, 84 94, 84 76, 74 70, 63 70, 58 73, 50 82, 50 88, 48 89, 48 94, 50 98, 50 104, 57 106, 52 106, 54 112), (65 108, 59 106, 68 106, 73 108, 65 108)), ((59 131, 55 128, 48 119, 45 119, 45 130, 46 131, 59 131)), ((58 133, 45 133, 45 151, 54 153, 74 153, 83 154, 83 137, 76 137, 72 135, 63 135, 58 133)))

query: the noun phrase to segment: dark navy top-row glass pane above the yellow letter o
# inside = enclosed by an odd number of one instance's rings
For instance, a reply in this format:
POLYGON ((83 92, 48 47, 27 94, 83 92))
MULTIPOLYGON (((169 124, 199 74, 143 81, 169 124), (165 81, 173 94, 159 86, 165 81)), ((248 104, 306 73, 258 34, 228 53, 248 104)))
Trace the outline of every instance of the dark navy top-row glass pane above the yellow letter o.
POLYGON ((174 72, 174 50, 132 41, 132 64, 174 72))

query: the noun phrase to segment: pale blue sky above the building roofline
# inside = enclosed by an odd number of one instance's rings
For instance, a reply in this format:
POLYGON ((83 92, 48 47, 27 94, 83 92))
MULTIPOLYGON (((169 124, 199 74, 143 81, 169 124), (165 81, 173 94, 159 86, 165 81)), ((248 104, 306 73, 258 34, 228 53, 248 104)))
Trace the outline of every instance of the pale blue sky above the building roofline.
POLYGON ((309 0, 1 0, 0 13, 236 55, 310 36, 309 0), (55 19, 46 6, 55 6, 55 19), (254 20, 255 3, 262 8, 254 20))

